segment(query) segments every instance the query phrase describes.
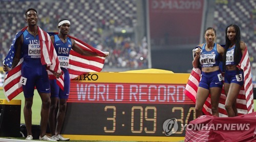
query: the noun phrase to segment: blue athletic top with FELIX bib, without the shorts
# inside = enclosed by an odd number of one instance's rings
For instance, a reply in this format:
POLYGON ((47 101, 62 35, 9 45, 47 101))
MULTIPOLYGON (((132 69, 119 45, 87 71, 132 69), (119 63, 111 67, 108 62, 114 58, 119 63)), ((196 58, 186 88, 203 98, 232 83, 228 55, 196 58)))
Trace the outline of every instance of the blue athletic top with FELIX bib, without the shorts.
POLYGON ((219 66, 220 54, 217 51, 217 44, 214 43, 214 48, 211 51, 206 51, 205 45, 206 43, 204 43, 200 55, 200 63, 202 67, 219 66))

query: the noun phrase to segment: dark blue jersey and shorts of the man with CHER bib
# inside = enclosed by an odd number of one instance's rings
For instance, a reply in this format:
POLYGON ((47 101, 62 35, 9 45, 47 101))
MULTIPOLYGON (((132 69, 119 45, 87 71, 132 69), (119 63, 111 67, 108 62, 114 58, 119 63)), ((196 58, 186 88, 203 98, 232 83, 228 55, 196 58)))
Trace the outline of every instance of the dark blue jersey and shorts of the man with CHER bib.
POLYGON ((22 78, 25 98, 34 96, 34 88, 38 92, 50 93, 50 83, 46 65, 41 64, 41 54, 38 35, 34 37, 27 30, 23 32, 24 42, 22 45, 22 54, 24 61, 22 63, 22 78))

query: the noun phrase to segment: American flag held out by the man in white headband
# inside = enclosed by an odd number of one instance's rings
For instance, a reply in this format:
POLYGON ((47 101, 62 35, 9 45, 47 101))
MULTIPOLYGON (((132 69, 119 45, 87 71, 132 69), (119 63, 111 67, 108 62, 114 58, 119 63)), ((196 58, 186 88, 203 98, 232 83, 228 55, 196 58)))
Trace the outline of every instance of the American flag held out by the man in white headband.
MULTIPOLYGON (((58 33, 49 33, 49 35, 55 35, 58 33)), ((69 74, 70 79, 74 79, 82 74, 86 74, 89 72, 100 72, 103 68, 105 58, 100 57, 103 56, 105 53, 95 49, 93 46, 68 35, 69 38, 75 40, 76 44, 83 50, 94 52, 98 54, 97 57, 88 57, 82 56, 77 52, 71 50, 69 55, 69 74)))

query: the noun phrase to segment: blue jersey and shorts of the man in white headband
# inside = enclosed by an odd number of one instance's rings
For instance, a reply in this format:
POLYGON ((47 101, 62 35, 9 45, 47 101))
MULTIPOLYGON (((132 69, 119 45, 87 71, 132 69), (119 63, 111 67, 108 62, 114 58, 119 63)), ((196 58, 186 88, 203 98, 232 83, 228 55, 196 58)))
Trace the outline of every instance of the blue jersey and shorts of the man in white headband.
POLYGON ((64 90, 61 90, 56 83, 56 80, 50 80, 51 83, 51 98, 68 99, 70 92, 70 77, 69 77, 69 53, 71 50, 71 39, 68 37, 67 42, 63 43, 58 35, 54 35, 54 48, 58 55, 59 65, 64 72, 64 90))

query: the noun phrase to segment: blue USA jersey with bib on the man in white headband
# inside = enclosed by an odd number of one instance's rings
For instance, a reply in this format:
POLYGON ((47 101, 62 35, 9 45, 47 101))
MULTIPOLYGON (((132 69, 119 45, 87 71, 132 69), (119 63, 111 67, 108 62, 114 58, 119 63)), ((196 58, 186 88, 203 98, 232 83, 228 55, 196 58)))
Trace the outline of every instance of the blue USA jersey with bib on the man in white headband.
POLYGON ((69 53, 71 50, 72 42, 68 37, 67 42, 64 43, 59 39, 58 35, 54 35, 54 48, 57 52, 60 67, 69 67, 69 53))

